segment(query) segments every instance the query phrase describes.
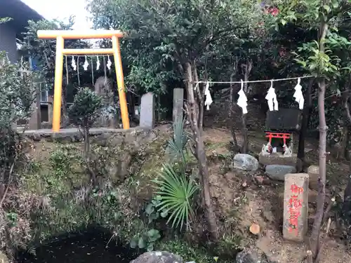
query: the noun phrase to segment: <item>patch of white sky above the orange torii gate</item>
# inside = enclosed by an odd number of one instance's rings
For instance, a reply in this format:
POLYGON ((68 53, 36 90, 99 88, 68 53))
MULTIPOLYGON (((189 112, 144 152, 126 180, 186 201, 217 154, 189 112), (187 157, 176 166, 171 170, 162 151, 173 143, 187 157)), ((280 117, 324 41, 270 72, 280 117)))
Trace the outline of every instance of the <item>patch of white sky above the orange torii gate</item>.
POLYGON ((55 18, 65 20, 69 15, 75 15, 74 29, 77 30, 89 29, 92 25, 85 10, 86 0, 22 0, 22 2, 48 20, 55 18))

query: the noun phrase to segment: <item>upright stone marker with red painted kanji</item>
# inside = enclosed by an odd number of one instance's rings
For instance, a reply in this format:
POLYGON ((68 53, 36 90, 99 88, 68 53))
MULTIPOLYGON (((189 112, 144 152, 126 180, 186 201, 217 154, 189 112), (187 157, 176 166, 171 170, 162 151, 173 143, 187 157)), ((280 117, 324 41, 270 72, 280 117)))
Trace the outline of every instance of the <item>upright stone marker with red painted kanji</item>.
POLYGON ((308 174, 288 173, 284 187, 283 237, 302 242, 307 232, 308 174))

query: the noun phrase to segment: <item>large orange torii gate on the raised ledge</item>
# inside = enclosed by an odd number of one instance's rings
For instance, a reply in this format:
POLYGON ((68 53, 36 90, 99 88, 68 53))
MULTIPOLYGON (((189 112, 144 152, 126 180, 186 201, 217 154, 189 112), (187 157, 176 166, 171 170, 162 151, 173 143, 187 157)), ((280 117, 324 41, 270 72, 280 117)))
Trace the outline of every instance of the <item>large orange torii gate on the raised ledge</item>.
POLYGON ((53 131, 60 130, 63 55, 113 55, 116 67, 119 104, 123 128, 129 128, 128 107, 124 92, 124 76, 121 61, 119 38, 123 33, 119 30, 89 30, 79 32, 75 30, 38 30, 39 39, 56 39, 55 85, 53 95, 53 131), (112 39, 112 48, 65 48, 65 39, 112 39))

